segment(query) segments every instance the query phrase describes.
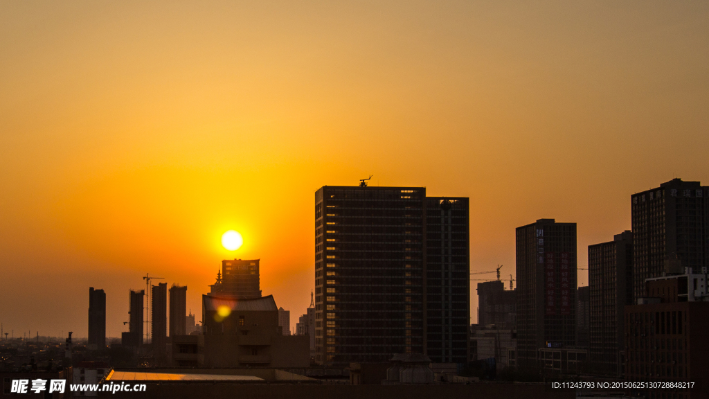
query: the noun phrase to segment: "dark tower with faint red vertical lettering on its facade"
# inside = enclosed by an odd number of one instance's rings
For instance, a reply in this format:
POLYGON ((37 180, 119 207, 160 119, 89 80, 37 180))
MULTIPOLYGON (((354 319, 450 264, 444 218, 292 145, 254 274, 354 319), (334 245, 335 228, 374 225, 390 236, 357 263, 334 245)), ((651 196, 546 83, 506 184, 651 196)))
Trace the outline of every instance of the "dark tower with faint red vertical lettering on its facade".
POLYGON ((518 364, 535 367, 537 349, 576 344, 576 223, 539 219, 516 236, 518 364))

